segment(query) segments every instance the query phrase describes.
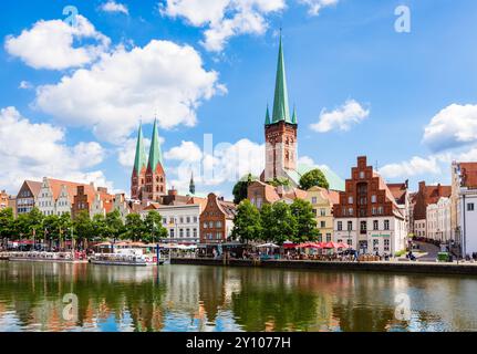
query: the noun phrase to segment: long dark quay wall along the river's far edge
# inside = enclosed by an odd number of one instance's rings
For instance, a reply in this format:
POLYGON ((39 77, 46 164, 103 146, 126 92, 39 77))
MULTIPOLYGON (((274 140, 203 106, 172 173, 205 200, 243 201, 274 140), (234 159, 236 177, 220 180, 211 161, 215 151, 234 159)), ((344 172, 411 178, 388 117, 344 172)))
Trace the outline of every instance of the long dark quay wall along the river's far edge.
POLYGON ((289 261, 267 260, 253 261, 232 259, 199 259, 173 258, 172 264, 187 266, 222 266, 222 267, 261 267, 281 269, 333 270, 333 271, 362 271, 376 273, 424 273, 424 274, 459 274, 477 275, 477 263, 435 263, 435 262, 320 262, 320 261, 289 261))

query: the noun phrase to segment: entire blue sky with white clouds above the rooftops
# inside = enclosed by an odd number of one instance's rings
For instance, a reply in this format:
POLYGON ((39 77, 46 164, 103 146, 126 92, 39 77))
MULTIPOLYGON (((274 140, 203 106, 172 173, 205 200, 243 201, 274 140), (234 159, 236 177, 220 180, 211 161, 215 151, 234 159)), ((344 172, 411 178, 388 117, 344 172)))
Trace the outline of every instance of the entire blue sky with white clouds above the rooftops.
POLYGON ((448 183, 452 159, 477 160, 475 1, 106 2, 0 3, 0 187, 12 194, 43 176, 128 191, 135 127, 148 137, 156 115, 169 186, 195 169, 199 191, 229 196, 229 175, 200 177, 204 134, 217 173, 237 147, 249 158, 236 175, 260 169, 280 27, 303 162, 348 178, 367 155, 416 188, 448 183), (394 28, 402 4, 409 33, 394 28))

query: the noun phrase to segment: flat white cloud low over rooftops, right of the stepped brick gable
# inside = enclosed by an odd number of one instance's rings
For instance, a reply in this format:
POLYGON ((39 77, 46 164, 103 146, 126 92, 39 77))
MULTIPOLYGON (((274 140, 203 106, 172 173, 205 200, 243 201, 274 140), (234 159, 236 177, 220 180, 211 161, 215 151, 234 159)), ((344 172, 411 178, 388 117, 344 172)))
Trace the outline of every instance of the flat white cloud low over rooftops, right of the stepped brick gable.
POLYGON ((427 174, 439 175, 442 174, 442 168, 439 159, 436 156, 427 158, 414 156, 408 162, 383 166, 380 169, 380 174, 385 178, 413 177, 427 174))

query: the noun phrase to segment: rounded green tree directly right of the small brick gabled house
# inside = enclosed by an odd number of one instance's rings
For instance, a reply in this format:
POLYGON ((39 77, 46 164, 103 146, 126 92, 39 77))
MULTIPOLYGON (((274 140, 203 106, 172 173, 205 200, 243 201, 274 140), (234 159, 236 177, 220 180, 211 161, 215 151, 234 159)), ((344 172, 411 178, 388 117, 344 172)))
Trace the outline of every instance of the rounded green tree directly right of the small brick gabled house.
POLYGON ((232 237, 241 242, 262 239, 260 211, 248 199, 242 200, 237 208, 232 237))

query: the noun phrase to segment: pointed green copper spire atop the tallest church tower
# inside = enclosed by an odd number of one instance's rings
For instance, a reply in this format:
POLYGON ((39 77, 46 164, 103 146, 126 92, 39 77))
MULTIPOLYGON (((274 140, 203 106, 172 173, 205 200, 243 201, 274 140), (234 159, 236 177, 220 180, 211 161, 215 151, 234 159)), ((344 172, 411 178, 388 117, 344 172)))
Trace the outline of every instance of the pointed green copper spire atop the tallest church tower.
POLYGON ((278 123, 281 121, 292 123, 290 119, 290 108, 288 105, 287 74, 284 72, 283 45, 280 34, 272 123, 278 123))

